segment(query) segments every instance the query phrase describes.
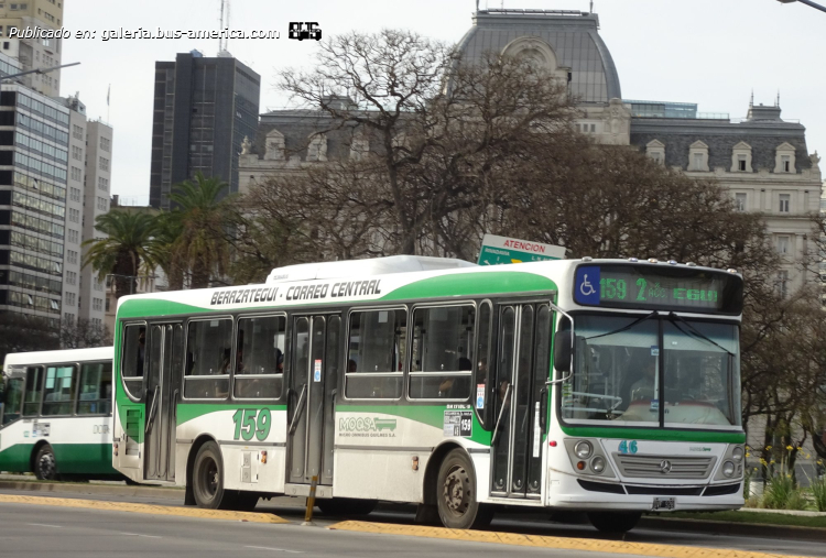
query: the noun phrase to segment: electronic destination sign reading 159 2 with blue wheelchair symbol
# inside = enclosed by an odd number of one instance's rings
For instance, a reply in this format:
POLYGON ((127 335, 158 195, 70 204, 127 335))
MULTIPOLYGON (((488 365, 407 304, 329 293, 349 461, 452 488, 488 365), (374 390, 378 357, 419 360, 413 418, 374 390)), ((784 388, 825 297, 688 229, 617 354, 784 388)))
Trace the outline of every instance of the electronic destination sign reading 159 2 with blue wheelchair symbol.
POLYGON ((576 269, 574 300, 607 308, 737 315, 742 311, 742 278, 686 266, 588 264, 576 269))

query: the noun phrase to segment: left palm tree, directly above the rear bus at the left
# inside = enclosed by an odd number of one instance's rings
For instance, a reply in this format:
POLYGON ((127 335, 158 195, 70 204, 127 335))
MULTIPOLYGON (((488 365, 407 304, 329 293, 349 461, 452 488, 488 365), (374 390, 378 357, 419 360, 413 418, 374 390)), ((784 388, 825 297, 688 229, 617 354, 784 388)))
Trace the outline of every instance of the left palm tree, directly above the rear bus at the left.
POLYGON ((99 215, 95 229, 107 234, 102 239, 89 239, 83 265, 91 265, 102 277, 115 276, 115 296, 120 298, 135 292, 138 274, 152 271, 157 264, 156 218, 148 212, 112 210, 99 215))

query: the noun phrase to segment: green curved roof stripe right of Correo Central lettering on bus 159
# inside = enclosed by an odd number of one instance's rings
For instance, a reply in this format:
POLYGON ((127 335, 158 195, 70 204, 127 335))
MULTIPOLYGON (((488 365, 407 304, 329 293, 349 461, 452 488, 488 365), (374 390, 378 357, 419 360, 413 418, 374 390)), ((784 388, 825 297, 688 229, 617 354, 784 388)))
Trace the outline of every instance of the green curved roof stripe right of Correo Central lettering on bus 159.
POLYGON ((459 273, 416 281, 391 291, 382 300, 555 291, 556 283, 524 272, 459 273))

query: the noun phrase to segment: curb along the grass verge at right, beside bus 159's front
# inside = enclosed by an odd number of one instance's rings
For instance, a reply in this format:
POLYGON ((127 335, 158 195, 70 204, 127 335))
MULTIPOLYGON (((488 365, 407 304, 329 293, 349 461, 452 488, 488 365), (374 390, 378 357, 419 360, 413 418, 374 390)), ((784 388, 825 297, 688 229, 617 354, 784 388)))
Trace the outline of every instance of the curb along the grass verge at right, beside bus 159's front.
POLYGON ((784 538, 793 535, 794 538, 802 540, 826 541, 826 529, 800 527, 797 525, 769 525, 764 523, 718 522, 713 519, 671 519, 666 517, 643 516, 640 523, 637 524, 637 528, 675 529, 760 538, 784 538))

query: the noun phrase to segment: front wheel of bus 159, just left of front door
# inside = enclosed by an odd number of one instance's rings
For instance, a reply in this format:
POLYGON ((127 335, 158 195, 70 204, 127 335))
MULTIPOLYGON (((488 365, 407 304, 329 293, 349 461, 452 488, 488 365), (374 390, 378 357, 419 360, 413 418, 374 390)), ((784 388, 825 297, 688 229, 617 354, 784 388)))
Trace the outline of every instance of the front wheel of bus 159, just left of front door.
POLYGON ((476 495, 474 463, 464 450, 452 450, 442 461, 436 481, 436 507, 442 525, 471 529, 490 524, 493 508, 480 504, 476 495))

